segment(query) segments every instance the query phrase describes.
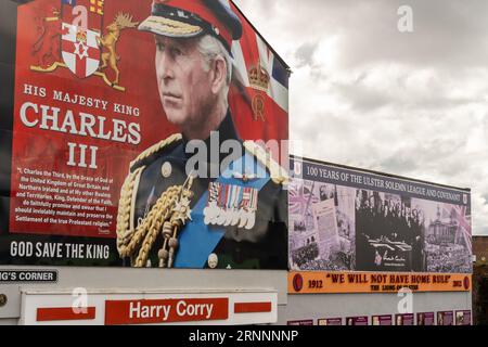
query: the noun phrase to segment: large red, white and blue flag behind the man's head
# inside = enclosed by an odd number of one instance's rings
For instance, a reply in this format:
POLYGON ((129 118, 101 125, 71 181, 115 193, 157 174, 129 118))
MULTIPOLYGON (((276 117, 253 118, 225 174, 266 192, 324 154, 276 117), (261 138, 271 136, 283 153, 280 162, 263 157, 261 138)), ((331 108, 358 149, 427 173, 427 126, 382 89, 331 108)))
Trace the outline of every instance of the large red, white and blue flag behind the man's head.
MULTIPOLYGON (((270 49, 241 11, 229 0, 227 3, 241 18, 243 36, 232 43, 234 86, 229 93, 229 106, 243 139, 288 139, 288 67, 270 49), (259 74, 262 85, 257 86, 253 72, 259 74), (267 75, 267 76, 264 76, 267 75), (268 79, 268 82, 265 81, 268 79), (256 103, 258 101, 258 103, 256 103), (251 127, 249 127, 251 125, 251 127)), ((272 150, 272 149, 269 149, 272 150)), ((271 151, 273 158, 282 162, 286 153, 271 151)), ((285 166, 284 163, 282 163, 285 166)))

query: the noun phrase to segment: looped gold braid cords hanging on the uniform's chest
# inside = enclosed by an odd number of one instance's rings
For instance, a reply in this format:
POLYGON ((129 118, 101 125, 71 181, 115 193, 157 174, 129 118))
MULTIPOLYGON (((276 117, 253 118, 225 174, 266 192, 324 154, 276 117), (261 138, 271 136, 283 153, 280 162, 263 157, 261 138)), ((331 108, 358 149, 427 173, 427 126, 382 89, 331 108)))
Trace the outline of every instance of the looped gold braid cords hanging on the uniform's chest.
MULTIPOLYGON (((126 183, 131 179, 129 175, 126 183)), ((159 233, 163 233, 164 246, 158 252, 160 259, 159 267, 172 267, 178 248, 178 231, 181 230, 188 219, 191 219, 190 203, 193 197, 191 191, 192 184, 193 178, 189 177, 183 185, 168 188, 151 208, 147 217, 132 232, 126 231, 128 226, 127 220, 130 217, 120 214, 121 208, 119 208, 119 218, 117 219, 117 248, 120 257, 133 258, 137 255, 133 266, 137 268, 145 267, 151 248, 159 233)), ((130 187, 133 189, 133 184, 127 183, 127 190, 130 187)), ((123 213, 125 211, 123 210, 123 213)))

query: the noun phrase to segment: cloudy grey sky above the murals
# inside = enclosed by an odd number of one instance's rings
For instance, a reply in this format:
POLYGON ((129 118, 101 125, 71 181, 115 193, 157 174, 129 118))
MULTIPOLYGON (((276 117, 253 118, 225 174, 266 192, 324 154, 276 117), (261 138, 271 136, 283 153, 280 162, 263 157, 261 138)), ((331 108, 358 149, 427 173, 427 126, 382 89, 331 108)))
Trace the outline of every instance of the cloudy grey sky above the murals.
POLYGON ((472 188, 488 235, 488 1, 234 1, 293 69, 305 156, 472 188))

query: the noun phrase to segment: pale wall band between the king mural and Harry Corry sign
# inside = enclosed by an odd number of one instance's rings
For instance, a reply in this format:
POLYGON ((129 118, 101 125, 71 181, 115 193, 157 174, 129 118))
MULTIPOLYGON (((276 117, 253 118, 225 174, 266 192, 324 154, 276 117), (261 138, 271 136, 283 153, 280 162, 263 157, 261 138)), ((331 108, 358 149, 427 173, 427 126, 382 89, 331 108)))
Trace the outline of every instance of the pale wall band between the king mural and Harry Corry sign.
MULTIPOLYGON (((40 267, 0 267, 0 270, 35 269, 40 267)), ((21 317, 21 287, 33 290, 274 290, 278 304, 287 300, 287 271, 268 270, 180 270, 132 268, 46 268, 59 271, 59 282, 50 284, 0 283, 0 294, 8 303, 0 307, 0 324, 12 323, 21 317)))

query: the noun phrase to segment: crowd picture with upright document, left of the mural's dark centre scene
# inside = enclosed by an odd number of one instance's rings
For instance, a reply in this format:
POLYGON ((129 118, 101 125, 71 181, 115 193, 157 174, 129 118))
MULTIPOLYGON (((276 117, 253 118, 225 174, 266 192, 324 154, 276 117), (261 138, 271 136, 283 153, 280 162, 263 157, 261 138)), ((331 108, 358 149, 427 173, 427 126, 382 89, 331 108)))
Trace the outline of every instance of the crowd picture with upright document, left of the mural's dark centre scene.
POLYGON ((290 188, 291 268, 354 270, 356 190, 308 180, 290 188))

